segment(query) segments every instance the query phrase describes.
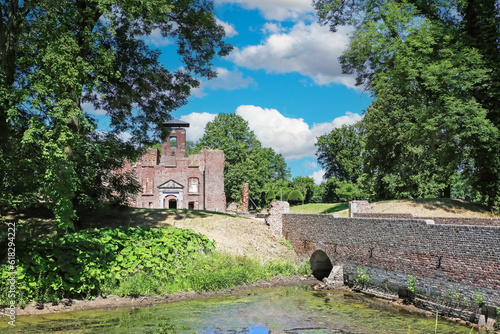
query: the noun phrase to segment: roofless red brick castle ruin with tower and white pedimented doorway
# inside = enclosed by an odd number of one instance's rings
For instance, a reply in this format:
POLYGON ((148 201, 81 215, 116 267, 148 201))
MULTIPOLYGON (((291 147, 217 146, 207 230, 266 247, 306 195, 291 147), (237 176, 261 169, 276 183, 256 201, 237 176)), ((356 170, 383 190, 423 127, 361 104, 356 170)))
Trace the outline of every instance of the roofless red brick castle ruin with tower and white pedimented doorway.
POLYGON ((165 123, 169 137, 161 151, 148 149, 133 170, 142 191, 131 206, 153 209, 195 209, 225 212, 224 152, 203 149, 186 157, 186 129, 189 123, 177 119, 165 123))

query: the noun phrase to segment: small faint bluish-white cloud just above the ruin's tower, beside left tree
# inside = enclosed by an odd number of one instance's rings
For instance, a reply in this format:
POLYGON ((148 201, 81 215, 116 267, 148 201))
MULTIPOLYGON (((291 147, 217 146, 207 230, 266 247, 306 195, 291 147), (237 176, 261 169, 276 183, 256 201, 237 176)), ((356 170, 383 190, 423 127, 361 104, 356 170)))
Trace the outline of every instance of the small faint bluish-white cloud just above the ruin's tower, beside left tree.
POLYGON ((214 78, 212 80, 202 81, 200 87, 192 90, 194 96, 203 97, 207 95, 205 93, 206 89, 235 90, 240 88, 246 88, 252 84, 255 84, 255 81, 251 77, 244 78, 243 73, 241 73, 237 69, 230 71, 226 68, 218 67, 216 68, 216 71, 217 71, 217 78, 214 78))

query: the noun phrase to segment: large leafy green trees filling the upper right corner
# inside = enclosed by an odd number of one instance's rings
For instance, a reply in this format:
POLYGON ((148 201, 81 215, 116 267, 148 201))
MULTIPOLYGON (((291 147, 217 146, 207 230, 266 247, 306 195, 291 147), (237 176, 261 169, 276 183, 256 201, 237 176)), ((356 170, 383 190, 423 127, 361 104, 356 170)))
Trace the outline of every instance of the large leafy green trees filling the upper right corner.
POLYGON ((317 0, 315 6, 332 30, 354 27, 340 60, 344 73, 355 73, 375 96, 364 123, 378 190, 449 194, 451 175, 463 171, 494 205, 500 199, 498 2, 317 0), (418 189, 426 182, 433 189, 418 189))

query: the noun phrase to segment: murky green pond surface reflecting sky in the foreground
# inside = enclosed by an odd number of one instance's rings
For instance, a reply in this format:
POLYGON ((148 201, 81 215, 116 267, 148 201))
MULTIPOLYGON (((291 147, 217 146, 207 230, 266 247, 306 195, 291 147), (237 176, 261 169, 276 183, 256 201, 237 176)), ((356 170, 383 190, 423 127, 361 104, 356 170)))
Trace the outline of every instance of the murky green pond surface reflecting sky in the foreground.
MULTIPOLYGON (((0 332, 5 325, 0 324, 0 332)), ((477 333, 442 320, 437 326, 439 334, 477 333)), ((429 334, 435 332, 435 319, 349 291, 313 291, 307 286, 246 290, 135 309, 18 316, 15 329, 7 332, 429 334)))

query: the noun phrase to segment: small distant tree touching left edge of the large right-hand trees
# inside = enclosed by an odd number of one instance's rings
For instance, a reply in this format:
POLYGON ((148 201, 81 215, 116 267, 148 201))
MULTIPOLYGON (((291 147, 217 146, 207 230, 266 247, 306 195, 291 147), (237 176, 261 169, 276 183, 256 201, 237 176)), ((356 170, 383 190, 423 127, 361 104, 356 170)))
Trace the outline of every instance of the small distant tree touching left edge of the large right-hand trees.
POLYGON ((363 142, 360 123, 344 125, 322 135, 314 144, 325 177, 356 182, 363 173, 363 142))

